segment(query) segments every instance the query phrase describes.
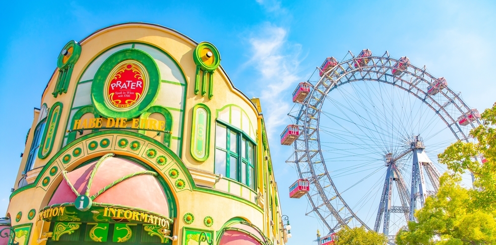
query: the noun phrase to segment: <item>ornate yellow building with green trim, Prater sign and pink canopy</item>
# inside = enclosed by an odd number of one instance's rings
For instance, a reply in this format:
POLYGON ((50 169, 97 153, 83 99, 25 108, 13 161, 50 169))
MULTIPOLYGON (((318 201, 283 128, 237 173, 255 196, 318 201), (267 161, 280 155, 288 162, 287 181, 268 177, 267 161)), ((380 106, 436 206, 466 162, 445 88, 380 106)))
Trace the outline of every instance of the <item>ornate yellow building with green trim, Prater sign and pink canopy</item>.
POLYGON ((15 241, 0 244, 285 244, 259 100, 220 61, 146 23, 67 43, 0 222, 15 241))

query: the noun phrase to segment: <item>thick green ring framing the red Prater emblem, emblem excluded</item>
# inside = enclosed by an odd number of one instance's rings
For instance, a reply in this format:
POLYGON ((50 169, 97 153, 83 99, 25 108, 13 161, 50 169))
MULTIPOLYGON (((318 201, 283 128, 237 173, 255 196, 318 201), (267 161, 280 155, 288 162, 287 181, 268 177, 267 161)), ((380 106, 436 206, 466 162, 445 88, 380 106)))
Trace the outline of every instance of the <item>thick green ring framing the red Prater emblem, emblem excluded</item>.
POLYGON ((154 59, 149 54, 139 49, 122 49, 110 55, 96 72, 93 83, 91 84, 91 101, 96 111, 105 117, 124 117, 130 119, 137 117, 152 105, 152 102, 158 96, 159 84, 160 72, 154 59), (107 105, 106 80, 116 65, 131 59, 144 66, 145 72, 148 74, 148 89, 144 91, 144 97, 140 99, 141 101, 131 106, 130 109, 118 110, 107 105))

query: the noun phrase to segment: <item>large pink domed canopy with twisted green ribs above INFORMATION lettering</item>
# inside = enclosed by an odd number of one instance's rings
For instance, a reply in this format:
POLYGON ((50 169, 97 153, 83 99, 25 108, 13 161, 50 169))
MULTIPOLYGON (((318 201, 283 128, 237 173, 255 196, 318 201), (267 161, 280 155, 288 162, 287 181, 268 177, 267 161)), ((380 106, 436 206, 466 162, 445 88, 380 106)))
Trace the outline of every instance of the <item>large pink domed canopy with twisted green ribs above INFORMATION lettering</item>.
MULTIPOLYGON (((81 195, 86 192, 91 171, 97 161, 95 160, 67 173, 69 181, 81 195)), ((128 174, 144 170, 146 169, 130 160, 108 157, 97 169, 90 187, 89 196, 94 195, 105 186, 128 174)), ((62 180, 48 205, 74 202, 75 199, 76 195, 72 192, 67 182, 62 180)), ((98 202, 138 207, 166 217, 169 216, 167 196, 158 180, 152 175, 137 175, 126 179, 93 200, 93 203, 98 202)))

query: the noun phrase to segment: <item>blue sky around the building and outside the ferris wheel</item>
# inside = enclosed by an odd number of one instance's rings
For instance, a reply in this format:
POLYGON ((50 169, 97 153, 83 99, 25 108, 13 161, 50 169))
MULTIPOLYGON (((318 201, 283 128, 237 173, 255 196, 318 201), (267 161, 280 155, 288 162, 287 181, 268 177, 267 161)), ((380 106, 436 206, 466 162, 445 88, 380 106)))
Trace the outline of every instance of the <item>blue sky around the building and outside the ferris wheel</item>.
MULTIPOLYGON (((494 1, 40 1, 3 3, 0 25, 0 216, 24 149, 33 107, 69 40, 106 26, 143 21, 164 25, 197 42, 209 41, 221 65, 249 97, 260 97, 283 213, 291 244, 311 244, 320 225, 305 216, 307 200, 288 198, 296 179, 284 161, 290 147, 278 143, 289 123, 291 93, 327 56, 343 58, 371 49, 408 55, 481 112, 496 101, 496 3, 494 1), (22 94, 19 96, 18 92, 22 94), (15 92, 15 93, 14 93, 15 92)), ((322 229, 321 229, 322 230, 322 229)))

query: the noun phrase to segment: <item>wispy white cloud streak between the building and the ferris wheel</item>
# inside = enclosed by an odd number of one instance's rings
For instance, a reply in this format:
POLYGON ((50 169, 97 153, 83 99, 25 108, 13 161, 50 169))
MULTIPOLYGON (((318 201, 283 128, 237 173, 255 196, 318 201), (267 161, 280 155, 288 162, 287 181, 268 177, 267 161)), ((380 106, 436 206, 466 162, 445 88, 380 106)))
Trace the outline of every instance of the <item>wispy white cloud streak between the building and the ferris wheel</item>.
POLYGON ((252 54, 248 64, 260 73, 259 96, 269 135, 288 121, 292 105, 287 89, 301 80, 297 75, 301 45, 289 43, 287 34, 282 27, 266 24, 249 39, 252 54))

